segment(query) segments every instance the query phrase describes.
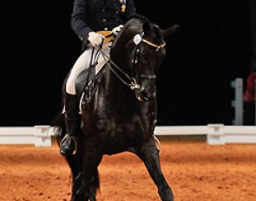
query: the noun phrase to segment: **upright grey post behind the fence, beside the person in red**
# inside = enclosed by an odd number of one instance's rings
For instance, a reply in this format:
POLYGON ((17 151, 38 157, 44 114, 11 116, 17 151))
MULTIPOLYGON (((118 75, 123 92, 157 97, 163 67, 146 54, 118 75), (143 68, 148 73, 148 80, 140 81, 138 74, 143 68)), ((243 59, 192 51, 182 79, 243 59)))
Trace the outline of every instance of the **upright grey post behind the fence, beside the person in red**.
POLYGON ((232 100, 232 107, 234 107, 233 125, 243 126, 243 79, 236 78, 231 82, 231 87, 234 88, 234 100, 232 100))

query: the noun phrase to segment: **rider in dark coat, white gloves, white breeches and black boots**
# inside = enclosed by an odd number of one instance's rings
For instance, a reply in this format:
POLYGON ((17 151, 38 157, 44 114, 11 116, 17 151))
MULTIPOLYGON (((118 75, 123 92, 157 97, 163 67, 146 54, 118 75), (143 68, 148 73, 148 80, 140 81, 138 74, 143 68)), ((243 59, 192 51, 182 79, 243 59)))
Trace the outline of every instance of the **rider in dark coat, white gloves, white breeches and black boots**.
MULTIPOLYGON (((74 0, 71 14, 71 28, 82 41, 82 55, 78 57, 65 86, 64 108, 66 135, 62 139, 62 155, 75 154, 77 129, 80 126, 80 114, 75 92, 75 79, 83 69, 89 68, 92 53, 102 46, 104 36, 101 31, 117 34, 128 16, 135 14, 134 0, 74 0)), ((111 42, 103 44, 102 49, 109 55, 111 42)), ((101 55, 98 60, 100 60, 101 55)), ((97 62, 97 61, 96 61, 97 62)))

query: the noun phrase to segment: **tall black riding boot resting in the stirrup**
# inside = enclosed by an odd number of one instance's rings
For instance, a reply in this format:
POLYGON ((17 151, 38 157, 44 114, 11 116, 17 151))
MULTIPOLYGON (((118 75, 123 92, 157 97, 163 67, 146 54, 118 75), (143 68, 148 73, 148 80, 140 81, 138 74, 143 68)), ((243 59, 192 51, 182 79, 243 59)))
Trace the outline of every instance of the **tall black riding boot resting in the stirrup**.
POLYGON ((66 135, 62 139, 60 152, 62 155, 75 154, 77 133, 80 126, 79 106, 76 95, 65 94, 65 124, 66 135))

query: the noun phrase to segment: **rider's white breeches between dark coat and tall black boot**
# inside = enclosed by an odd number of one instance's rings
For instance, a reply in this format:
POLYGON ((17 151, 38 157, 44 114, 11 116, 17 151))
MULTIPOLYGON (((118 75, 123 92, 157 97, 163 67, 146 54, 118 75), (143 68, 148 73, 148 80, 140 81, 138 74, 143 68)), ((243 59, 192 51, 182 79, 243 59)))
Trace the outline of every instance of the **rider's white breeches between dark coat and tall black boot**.
MULTIPOLYGON (((110 52, 110 48, 109 48, 110 45, 111 45, 110 43, 104 44, 102 48, 102 52, 104 53, 104 55, 107 55, 108 57, 110 52)), ((85 49, 82 55, 80 55, 75 61, 74 66, 71 68, 70 75, 66 83, 66 92, 68 94, 76 94, 75 79, 82 72, 82 70, 89 68, 92 50, 93 50, 92 47, 88 47, 87 49, 85 49)), ((107 62, 106 56, 104 57, 100 51, 97 51, 96 49, 94 49, 94 55, 92 58, 95 58, 95 59, 98 58, 98 61, 91 62, 91 64, 95 64, 96 62, 99 63, 99 65, 97 65, 97 68, 95 69, 95 73, 97 73, 99 68, 101 68, 105 62, 107 62), (99 55, 95 57, 95 54, 97 52, 99 55)))

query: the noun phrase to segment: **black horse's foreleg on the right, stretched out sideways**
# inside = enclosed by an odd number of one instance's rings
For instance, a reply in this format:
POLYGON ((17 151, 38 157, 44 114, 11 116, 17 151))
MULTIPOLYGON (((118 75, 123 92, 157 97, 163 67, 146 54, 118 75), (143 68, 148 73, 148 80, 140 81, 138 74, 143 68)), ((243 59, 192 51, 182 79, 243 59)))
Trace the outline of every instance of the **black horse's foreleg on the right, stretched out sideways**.
POLYGON ((174 195, 161 172, 159 151, 154 144, 154 139, 149 139, 140 148, 137 148, 137 155, 146 165, 162 201, 173 201, 174 195))

